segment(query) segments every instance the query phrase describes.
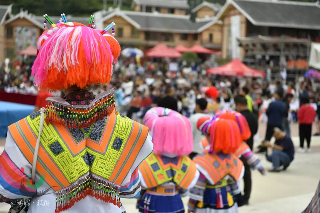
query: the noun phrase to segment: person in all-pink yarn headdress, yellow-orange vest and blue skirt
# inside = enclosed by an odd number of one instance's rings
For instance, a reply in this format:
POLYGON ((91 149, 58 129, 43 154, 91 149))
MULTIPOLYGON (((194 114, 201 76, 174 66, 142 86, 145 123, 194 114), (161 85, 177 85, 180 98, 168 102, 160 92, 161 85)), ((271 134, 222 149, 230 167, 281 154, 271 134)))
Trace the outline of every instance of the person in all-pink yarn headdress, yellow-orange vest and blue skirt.
POLYGON ((196 164, 188 157, 193 150, 190 121, 176 111, 154 107, 143 123, 151 131, 154 150, 138 167, 145 189, 139 212, 185 212, 181 196, 199 177, 196 164))

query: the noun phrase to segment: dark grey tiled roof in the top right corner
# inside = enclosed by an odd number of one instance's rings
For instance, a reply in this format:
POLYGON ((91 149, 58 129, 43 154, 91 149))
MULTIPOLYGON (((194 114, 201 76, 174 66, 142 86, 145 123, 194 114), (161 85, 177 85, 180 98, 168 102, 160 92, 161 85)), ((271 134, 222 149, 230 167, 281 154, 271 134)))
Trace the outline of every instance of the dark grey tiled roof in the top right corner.
MULTIPOLYGON (((256 26, 320 29, 318 3, 277 0, 230 0, 228 2, 226 4, 232 4, 256 26)), ((223 10, 220 13, 222 14, 223 10)))

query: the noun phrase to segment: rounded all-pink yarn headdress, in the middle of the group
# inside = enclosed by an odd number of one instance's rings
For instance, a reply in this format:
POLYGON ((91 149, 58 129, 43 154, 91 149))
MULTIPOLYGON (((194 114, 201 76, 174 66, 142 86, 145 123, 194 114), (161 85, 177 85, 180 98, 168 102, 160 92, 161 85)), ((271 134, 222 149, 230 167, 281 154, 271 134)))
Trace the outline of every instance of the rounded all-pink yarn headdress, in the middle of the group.
POLYGON ((189 119, 164 107, 147 111, 143 123, 149 128, 157 155, 188 156, 193 150, 193 136, 189 119))

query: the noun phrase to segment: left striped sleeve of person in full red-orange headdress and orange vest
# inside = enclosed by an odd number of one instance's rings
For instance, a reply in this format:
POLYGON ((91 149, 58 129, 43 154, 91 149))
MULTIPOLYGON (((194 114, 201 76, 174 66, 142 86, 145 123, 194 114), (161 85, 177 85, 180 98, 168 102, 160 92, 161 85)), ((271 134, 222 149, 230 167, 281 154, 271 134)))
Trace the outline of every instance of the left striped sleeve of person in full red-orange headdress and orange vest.
POLYGON ((203 174, 200 173, 199 179, 196 182, 196 185, 192 189, 190 189, 190 192, 189 192, 190 199, 188 202, 188 209, 193 211, 196 208, 197 203, 203 201, 205 183, 206 183, 206 178, 204 177, 203 174))

